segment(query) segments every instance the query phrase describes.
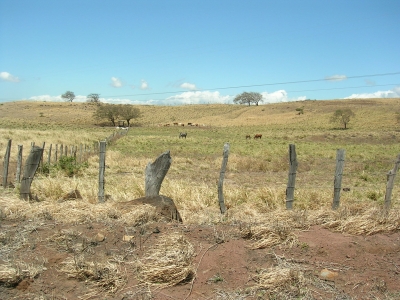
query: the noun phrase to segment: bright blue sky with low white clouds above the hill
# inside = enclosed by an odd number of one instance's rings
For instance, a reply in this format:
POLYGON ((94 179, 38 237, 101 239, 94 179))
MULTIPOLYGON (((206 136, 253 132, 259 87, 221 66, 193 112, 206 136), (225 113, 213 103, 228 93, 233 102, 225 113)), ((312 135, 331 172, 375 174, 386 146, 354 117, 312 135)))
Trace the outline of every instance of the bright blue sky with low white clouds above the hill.
POLYGON ((0 0, 0 102, 400 97, 399 0, 0 0))

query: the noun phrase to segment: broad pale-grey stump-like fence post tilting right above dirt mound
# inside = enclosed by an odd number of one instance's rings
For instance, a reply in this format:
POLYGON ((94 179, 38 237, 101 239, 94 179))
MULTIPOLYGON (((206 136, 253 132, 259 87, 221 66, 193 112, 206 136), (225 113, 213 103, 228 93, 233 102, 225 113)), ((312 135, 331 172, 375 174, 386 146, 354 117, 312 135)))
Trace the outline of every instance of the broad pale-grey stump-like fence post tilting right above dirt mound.
POLYGON ((161 184, 171 166, 172 158, 169 150, 162 153, 153 163, 148 163, 145 169, 145 196, 158 196, 161 184))

